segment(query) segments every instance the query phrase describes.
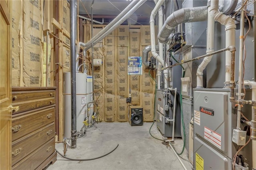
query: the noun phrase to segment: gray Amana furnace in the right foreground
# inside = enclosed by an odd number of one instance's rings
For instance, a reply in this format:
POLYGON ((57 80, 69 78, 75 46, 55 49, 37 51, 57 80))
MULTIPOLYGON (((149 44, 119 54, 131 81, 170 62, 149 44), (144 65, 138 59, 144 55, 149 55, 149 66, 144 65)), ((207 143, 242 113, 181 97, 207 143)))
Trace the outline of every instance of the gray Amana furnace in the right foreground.
MULTIPOLYGON (((236 92, 235 92, 236 93, 236 92)), ((246 92, 250 98, 251 91, 246 92)), ((238 146, 232 142, 236 110, 229 101, 229 89, 194 89, 194 166, 196 169, 231 170, 238 146), (218 162, 218 164, 216 164, 218 162)), ((251 106, 242 111, 251 120, 251 106)), ((242 130, 245 125, 241 125, 242 130)), ((246 141, 250 136, 247 136, 246 141)), ((251 141, 240 152, 252 167, 251 141)))

